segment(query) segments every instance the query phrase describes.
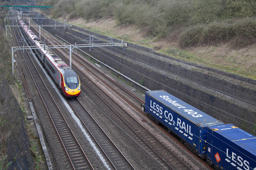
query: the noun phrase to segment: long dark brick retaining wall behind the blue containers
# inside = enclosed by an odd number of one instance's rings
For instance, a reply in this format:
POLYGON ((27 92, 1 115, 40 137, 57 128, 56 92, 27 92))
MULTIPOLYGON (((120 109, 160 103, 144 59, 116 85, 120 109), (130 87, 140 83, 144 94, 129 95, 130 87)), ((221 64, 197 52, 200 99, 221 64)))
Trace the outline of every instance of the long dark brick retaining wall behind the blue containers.
MULTIPOLYGON (((40 25, 55 23, 48 18, 36 22, 40 25)), ((86 41, 82 40, 88 40, 90 35, 105 41, 94 43, 109 43, 108 37, 77 26, 44 29, 72 44, 84 44, 86 41)), ((83 50, 150 90, 166 90, 212 117, 255 135, 255 80, 155 53, 131 43, 127 43, 127 47, 94 47, 91 51, 87 47, 83 50)))

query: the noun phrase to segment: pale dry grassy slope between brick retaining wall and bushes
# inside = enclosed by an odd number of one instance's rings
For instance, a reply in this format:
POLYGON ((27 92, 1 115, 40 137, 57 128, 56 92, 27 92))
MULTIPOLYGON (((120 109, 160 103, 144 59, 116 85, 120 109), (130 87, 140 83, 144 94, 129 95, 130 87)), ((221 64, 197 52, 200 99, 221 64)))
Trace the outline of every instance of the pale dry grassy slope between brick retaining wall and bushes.
POLYGON ((134 25, 119 25, 111 18, 102 18, 89 23, 83 19, 72 19, 70 23, 83 26, 92 32, 153 48, 159 53, 256 80, 255 44, 240 49, 230 48, 229 43, 180 49, 178 47, 179 29, 166 38, 158 39, 146 36, 146 32, 134 25))

